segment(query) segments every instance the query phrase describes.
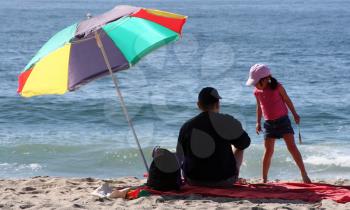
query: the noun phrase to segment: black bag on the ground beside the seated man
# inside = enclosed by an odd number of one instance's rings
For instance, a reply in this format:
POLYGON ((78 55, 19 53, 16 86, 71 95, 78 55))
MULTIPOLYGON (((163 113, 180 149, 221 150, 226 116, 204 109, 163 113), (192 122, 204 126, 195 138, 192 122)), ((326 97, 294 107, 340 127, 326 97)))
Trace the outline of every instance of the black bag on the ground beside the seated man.
POLYGON ((146 185, 159 191, 179 190, 181 169, 177 157, 167 149, 155 147, 146 185))

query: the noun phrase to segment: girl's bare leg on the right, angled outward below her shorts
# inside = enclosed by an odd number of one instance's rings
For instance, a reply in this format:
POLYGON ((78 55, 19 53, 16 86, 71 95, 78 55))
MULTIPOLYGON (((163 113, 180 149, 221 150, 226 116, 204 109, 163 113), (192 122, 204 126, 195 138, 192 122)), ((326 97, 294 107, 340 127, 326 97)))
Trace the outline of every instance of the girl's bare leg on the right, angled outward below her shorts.
POLYGON ((307 172, 305 170, 303 158, 298 150, 297 145, 295 144, 294 141, 294 135, 293 134, 286 134, 283 136, 284 141, 286 142, 288 151, 292 155, 295 163, 300 169, 301 172, 301 177, 303 178, 304 183, 311 183, 310 178, 307 175, 307 172))

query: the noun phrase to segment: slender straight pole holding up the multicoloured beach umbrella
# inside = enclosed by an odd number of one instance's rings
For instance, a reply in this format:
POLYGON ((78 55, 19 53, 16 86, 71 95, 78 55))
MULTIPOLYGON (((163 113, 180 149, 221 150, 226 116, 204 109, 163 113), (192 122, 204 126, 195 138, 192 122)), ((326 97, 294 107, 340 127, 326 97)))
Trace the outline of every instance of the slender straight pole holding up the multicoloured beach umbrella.
POLYGON ((122 96, 122 93, 121 93, 120 88, 119 88, 119 85, 118 85, 117 77, 113 74, 113 71, 112 71, 112 68, 111 68, 111 64, 109 63, 109 60, 108 60, 106 51, 105 51, 104 46, 103 46, 103 44, 102 44, 100 35, 98 34, 97 31, 95 32, 95 38, 96 38, 97 45, 98 45, 98 47, 99 47, 100 50, 101 50, 103 59, 104 59, 106 65, 107 65, 107 68, 108 68, 108 70, 109 70, 109 73, 111 74, 111 77, 112 77, 112 80, 113 80, 113 83, 114 83, 114 87, 115 87, 115 89, 116 89, 116 94, 117 94, 117 96, 118 96, 119 99, 120 99, 120 104, 121 104, 121 107, 122 107, 122 109, 123 109, 125 118, 126 118, 126 120, 128 121, 129 127, 131 128, 131 131, 132 131, 132 134, 133 134, 133 136, 134 136, 134 138, 135 138, 137 147, 138 147, 139 152, 140 152, 140 154, 141 154, 141 157, 142 157, 142 159, 143 159, 143 163, 145 164, 146 171, 148 172, 147 161, 146 161, 145 155, 143 154, 143 151, 142 151, 142 149, 141 149, 141 145, 140 145, 139 139, 137 138, 135 128, 134 128, 134 126, 133 126, 133 124, 132 124, 132 121, 131 121, 131 119, 130 119, 130 117, 129 117, 128 110, 126 109, 125 102, 124 102, 124 98, 123 98, 123 96, 122 96))

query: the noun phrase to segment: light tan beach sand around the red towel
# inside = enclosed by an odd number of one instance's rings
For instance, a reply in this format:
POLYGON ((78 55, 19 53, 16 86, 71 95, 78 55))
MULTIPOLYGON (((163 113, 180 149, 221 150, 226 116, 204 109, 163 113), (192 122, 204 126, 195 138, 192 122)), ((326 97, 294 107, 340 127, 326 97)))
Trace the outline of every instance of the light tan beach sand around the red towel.
MULTIPOLYGON (((33 177, 0 180, 0 209, 340 209, 350 210, 350 203, 331 200, 318 203, 285 200, 248 200, 202 196, 148 196, 135 200, 101 199, 91 195, 108 181, 113 187, 139 186, 145 182, 134 177, 113 180, 93 178, 33 177)), ((257 180, 248 180, 257 183, 257 180)), ((313 180, 321 183, 350 185, 349 180, 313 180)))

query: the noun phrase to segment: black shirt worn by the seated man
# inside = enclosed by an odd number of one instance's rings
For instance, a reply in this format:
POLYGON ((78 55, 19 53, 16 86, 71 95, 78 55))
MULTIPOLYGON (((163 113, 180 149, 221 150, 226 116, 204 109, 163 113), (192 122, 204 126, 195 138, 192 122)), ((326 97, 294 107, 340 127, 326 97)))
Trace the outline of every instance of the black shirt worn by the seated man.
POLYGON ((221 181, 237 174, 232 147, 250 145, 241 123, 230 115, 202 112, 180 130, 177 155, 185 177, 198 181, 221 181))

